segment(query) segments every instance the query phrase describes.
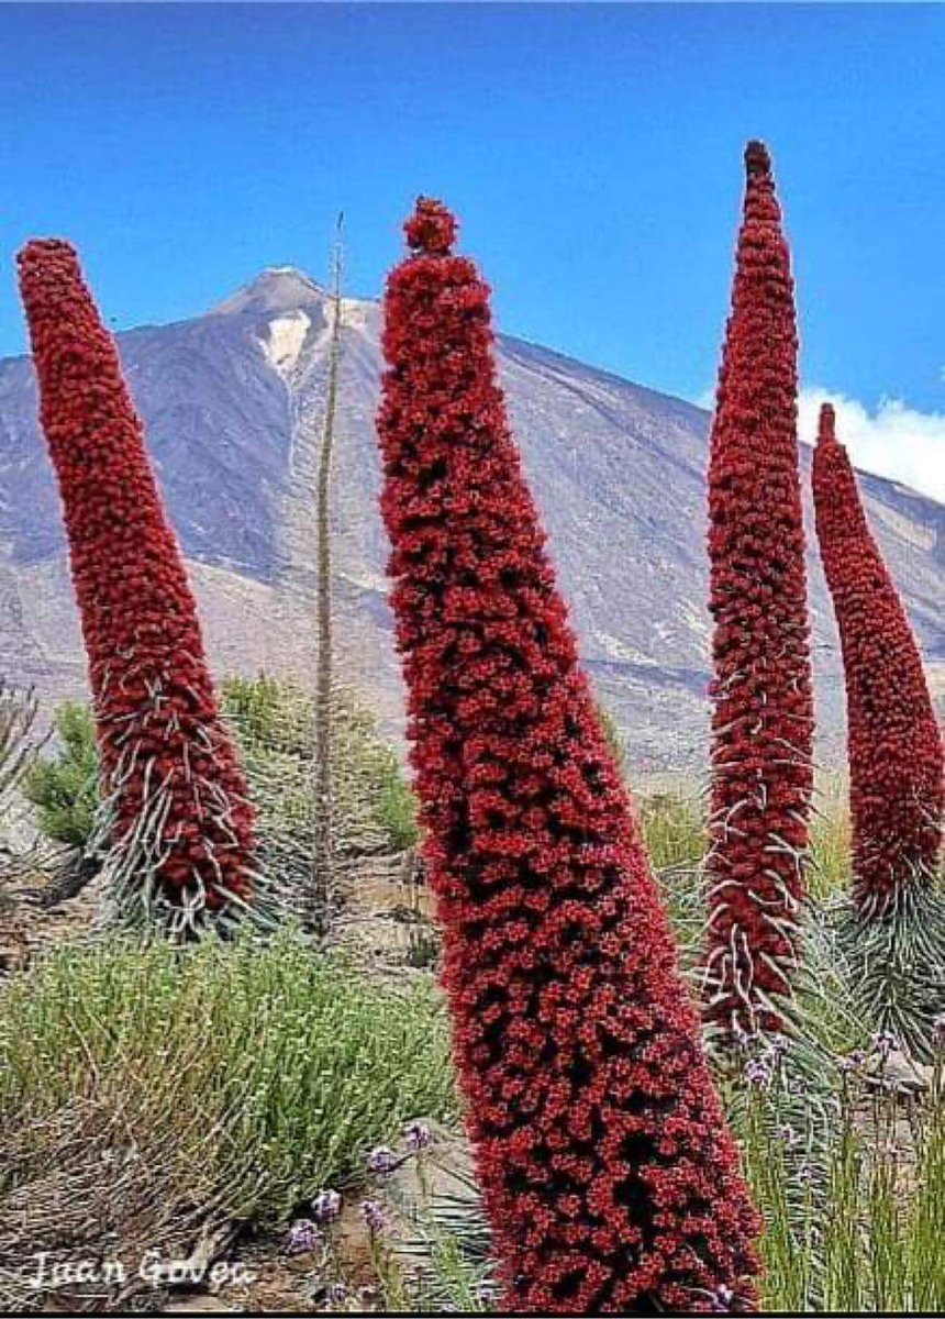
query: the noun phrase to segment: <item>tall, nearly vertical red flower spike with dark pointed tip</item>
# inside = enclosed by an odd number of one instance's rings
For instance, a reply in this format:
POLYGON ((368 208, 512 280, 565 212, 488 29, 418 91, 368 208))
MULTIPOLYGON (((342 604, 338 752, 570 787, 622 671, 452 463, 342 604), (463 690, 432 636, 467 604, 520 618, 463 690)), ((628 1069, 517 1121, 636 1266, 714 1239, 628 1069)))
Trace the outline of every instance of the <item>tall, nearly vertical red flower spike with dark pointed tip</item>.
POLYGON ((813 704, 793 284, 771 162, 747 186, 709 467, 714 681, 705 1013, 776 1030, 796 964, 813 704))

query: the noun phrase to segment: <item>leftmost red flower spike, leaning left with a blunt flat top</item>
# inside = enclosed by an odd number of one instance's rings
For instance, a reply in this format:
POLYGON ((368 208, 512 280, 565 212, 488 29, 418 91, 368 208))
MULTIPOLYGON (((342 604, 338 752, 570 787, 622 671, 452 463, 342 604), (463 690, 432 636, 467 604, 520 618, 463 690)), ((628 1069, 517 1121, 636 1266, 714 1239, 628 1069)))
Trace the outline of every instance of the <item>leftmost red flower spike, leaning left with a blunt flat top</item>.
POLYGON ((18 265, 113 836, 149 838, 170 905, 217 910, 249 897, 253 818, 142 426, 71 245, 29 243, 18 265))

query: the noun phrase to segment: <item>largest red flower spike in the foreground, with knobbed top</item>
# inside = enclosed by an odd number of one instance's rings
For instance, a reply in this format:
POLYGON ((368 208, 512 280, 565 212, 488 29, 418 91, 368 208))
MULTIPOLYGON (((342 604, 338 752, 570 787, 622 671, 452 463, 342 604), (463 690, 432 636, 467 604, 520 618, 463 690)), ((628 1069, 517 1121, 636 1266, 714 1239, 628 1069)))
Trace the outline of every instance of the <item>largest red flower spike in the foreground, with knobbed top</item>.
POLYGON ((378 431, 444 983, 514 1314, 750 1311, 757 1220, 509 430, 420 198, 378 431))

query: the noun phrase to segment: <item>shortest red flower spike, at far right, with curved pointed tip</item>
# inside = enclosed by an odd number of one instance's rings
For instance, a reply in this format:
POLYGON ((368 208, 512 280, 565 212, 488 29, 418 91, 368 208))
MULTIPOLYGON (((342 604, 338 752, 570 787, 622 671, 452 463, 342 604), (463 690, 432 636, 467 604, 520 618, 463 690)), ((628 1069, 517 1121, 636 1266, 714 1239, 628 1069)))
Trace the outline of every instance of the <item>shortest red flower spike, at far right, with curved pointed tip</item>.
POLYGON ((941 847, 942 740, 923 662, 825 404, 813 455, 817 537, 846 678, 854 900, 882 915, 933 881, 941 847))

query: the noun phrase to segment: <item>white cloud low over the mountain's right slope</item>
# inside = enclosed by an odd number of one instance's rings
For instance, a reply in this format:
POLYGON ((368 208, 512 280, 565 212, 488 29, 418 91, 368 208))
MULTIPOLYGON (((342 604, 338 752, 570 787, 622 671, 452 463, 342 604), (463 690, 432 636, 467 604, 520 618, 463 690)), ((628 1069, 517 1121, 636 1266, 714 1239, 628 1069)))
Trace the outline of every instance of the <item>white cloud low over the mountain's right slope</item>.
POLYGON ((883 398, 875 412, 845 394, 805 389, 800 438, 812 445, 821 404, 837 413, 837 439, 857 467, 902 481, 945 504, 945 413, 921 413, 900 398, 883 398))

